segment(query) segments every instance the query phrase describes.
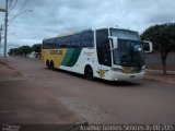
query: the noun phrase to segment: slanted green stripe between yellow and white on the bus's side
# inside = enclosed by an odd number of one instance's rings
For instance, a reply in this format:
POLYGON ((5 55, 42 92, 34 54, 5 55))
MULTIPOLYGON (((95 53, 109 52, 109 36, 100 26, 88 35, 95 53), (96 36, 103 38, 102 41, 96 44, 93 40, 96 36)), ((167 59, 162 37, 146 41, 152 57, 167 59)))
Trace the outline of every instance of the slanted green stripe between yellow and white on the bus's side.
POLYGON ((61 66, 73 67, 81 53, 82 48, 68 48, 61 66))

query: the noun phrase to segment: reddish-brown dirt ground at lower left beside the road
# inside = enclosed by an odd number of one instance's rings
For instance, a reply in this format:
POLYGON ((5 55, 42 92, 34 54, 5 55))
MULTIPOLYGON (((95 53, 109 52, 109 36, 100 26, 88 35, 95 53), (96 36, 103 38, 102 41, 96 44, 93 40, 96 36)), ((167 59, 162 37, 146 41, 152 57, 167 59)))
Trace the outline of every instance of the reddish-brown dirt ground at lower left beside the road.
POLYGON ((0 61, 0 123, 75 123, 81 121, 40 86, 0 61))

